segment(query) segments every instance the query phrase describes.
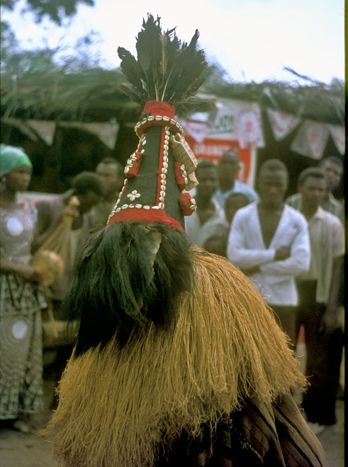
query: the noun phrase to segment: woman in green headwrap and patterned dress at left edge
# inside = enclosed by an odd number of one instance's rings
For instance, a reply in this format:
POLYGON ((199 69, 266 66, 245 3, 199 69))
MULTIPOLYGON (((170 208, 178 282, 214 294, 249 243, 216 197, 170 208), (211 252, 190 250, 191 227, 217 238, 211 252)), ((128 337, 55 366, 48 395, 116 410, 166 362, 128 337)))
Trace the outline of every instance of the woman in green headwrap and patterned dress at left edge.
POLYGON ((0 167, 0 422, 28 432, 28 416, 42 405, 46 307, 30 265, 35 207, 17 196, 28 189, 33 166, 23 149, 1 144, 0 167))

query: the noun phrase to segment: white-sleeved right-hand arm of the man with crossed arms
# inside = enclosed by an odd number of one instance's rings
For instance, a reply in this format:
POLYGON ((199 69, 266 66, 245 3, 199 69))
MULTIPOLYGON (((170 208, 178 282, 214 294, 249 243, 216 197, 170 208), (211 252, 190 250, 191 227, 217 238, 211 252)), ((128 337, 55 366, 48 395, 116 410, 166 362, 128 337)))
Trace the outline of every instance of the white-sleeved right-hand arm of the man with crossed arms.
POLYGON ((277 258, 271 263, 261 265, 260 270, 269 275, 297 276, 308 271, 310 266, 310 239, 305 219, 298 219, 296 235, 288 247, 287 258, 277 258), (278 260, 279 259, 279 260, 278 260))

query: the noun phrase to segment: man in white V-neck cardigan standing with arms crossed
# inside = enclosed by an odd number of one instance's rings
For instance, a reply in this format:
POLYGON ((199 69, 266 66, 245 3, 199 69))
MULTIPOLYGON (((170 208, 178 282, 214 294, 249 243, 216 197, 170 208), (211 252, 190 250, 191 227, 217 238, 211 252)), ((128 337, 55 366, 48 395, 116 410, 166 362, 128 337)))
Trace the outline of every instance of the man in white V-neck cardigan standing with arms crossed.
POLYGON ((238 209, 232 220, 228 260, 254 279, 296 346, 295 277, 310 265, 308 224, 303 214, 284 204, 288 171, 283 162, 264 162, 257 186, 261 201, 238 209))

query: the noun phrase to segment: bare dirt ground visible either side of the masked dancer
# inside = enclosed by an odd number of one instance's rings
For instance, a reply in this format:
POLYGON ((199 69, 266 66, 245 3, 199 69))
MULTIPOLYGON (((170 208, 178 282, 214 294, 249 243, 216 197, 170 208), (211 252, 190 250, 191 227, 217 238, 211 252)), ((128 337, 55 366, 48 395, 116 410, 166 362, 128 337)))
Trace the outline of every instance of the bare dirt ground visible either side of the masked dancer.
MULTIPOLYGON (((303 350, 301 350, 303 353, 303 350)), ((301 353, 300 352, 300 353, 301 353)), ((52 355, 46 355, 52 357, 52 355)), ((44 410, 31 420, 32 432, 21 434, 13 429, 0 429, 1 467, 58 467, 51 444, 41 435, 50 420, 55 381, 50 371, 44 374, 44 410)), ((327 427, 318 439, 327 455, 328 466, 344 467, 344 400, 337 400, 337 424, 327 427)), ((125 466, 115 466, 125 467, 125 466)), ((243 466, 244 467, 244 466, 243 466)))

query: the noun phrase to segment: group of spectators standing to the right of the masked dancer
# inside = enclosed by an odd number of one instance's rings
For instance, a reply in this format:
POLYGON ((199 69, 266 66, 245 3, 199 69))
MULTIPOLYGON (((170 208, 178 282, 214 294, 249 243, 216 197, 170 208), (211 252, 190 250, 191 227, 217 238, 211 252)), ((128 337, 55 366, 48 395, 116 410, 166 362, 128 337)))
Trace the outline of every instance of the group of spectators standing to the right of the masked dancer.
POLYGON ((343 305, 344 206, 333 192, 343 164, 329 156, 318 168, 305 169, 298 175, 298 192, 286 199, 288 169, 282 161, 270 158, 262 164, 257 192, 235 180, 239 166, 235 149, 215 168, 198 163, 203 184, 197 189, 196 217, 186 220, 187 235, 250 277, 295 351, 303 326, 310 386, 302 406, 308 425, 319 434, 336 422, 340 389, 344 323, 337 311, 343 305))

